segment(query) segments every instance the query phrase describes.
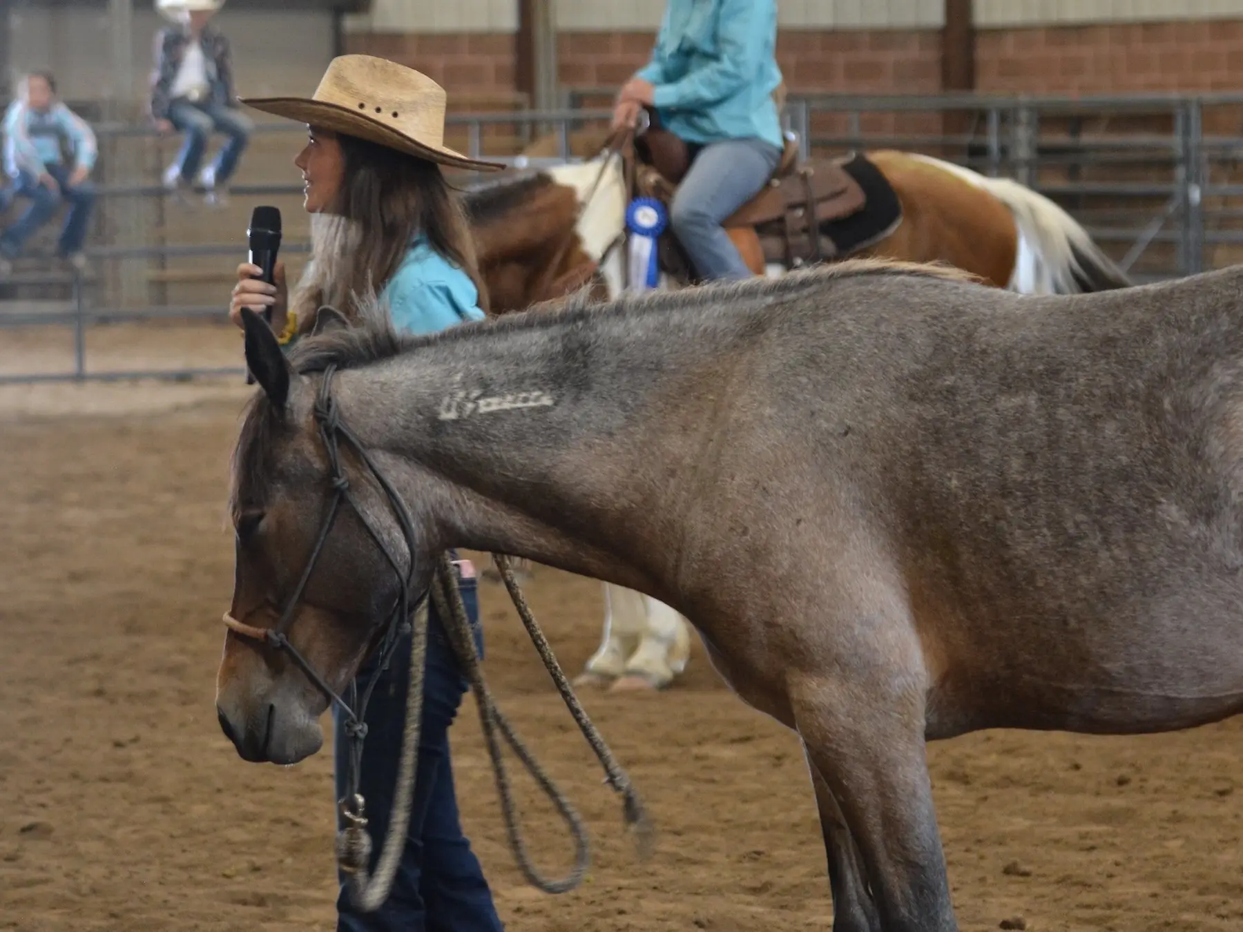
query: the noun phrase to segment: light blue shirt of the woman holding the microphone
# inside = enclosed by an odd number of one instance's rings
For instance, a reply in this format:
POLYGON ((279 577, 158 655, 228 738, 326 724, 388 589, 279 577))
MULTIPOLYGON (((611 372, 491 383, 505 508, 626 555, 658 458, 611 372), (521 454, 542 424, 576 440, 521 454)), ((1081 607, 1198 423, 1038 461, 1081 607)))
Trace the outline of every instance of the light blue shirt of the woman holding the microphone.
POLYGON ((398 332, 435 333, 465 321, 482 321, 479 291, 466 272, 415 239, 380 292, 398 332))

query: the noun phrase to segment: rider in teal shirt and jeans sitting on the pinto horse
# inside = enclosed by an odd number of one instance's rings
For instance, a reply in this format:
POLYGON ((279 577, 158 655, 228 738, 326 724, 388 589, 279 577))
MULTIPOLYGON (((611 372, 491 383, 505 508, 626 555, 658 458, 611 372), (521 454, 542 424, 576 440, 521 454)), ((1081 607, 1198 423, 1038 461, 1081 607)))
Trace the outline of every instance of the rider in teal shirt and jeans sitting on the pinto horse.
POLYGON ((691 167, 670 205, 674 235, 702 280, 751 276, 721 222, 781 162, 773 91, 777 0, 667 0, 651 61, 618 94, 614 127, 651 107, 687 143, 691 167))

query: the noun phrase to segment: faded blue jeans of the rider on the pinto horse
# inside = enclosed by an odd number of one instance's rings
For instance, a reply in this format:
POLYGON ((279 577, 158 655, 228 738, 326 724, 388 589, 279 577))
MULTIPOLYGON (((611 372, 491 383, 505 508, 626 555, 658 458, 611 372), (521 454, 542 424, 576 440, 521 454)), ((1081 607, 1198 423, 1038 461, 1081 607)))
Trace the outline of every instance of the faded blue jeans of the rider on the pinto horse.
POLYGON ((751 277, 721 221, 764 186, 781 154, 763 139, 725 139, 695 157, 674 195, 669 221, 701 278, 751 277))

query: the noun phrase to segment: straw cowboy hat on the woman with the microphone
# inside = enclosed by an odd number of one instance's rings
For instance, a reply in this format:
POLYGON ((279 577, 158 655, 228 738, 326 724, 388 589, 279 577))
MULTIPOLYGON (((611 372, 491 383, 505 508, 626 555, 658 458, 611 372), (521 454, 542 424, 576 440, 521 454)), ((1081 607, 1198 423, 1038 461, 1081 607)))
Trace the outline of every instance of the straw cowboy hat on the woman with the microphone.
POLYGON ((357 135, 441 165, 491 171, 445 145, 445 89, 414 68, 373 58, 333 58, 313 97, 244 97, 242 103, 277 117, 357 135))

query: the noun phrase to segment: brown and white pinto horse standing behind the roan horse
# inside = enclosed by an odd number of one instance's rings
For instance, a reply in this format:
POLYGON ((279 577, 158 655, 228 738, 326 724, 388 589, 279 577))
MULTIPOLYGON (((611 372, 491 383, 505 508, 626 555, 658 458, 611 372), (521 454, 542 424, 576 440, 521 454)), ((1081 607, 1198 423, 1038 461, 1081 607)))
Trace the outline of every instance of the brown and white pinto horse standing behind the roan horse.
MULTIPOLYGON (((600 152, 603 138, 576 134, 572 147, 600 152)), ((556 140, 537 140, 525 154, 553 158, 556 140)), ((943 262, 1027 295, 1130 285, 1069 214, 1029 188, 916 153, 865 154, 901 201, 902 220, 854 257, 943 262)), ((559 297, 593 276, 605 285, 602 297, 617 296, 623 287, 619 246, 628 199, 622 159, 603 154, 517 180, 502 176, 470 191, 467 206, 493 312, 559 297)), ((766 271, 773 276, 786 270, 768 265, 766 271)), ((671 282, 665 278, 664 285, 671 282)), ((672 682, 690 655, 687 621, 649 595, 609 583, 604 600, 600 645, 578 683, 624 691, 672 682)))

